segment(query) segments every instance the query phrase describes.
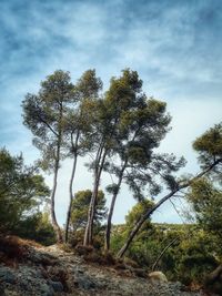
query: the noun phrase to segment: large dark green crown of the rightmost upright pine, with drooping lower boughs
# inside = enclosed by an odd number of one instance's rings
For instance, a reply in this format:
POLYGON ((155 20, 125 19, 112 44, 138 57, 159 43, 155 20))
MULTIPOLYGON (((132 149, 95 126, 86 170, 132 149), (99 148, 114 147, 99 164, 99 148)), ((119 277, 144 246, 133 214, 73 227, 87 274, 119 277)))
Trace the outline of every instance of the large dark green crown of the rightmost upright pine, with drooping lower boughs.
POLYGON ((176 161, 172 154, 154 154, 154 149, 170 130, 171 118, 167 113, 167 104, 153 98, 148 99, 142 92, 138 73, 129 69, 123 71, 122 76, 111 80, 107 101, 108 105, 112 102, 111 110, 115 116, 119 114, 114 121, 114 153, 120 160, 120 163, 115 162, 107 170, 122 177, 137 200, 144 197, 143 190, 148 186, 151 194, 160 193, 162 186, 158 184, 157 176, 172 186, 174 177, 171 173, 183 166, 184 160, 176 161), (131 85, 132 82, 137 86, 131 85))

